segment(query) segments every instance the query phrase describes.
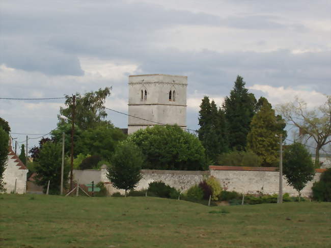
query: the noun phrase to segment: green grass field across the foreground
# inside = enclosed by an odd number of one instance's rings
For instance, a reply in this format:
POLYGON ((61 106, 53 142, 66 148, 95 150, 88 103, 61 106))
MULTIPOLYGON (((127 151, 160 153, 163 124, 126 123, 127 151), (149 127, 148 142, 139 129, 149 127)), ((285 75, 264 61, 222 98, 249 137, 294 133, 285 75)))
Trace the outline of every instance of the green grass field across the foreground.
POLYGON ((0 195, 0 247, 331 247, 331 203, 0 195))

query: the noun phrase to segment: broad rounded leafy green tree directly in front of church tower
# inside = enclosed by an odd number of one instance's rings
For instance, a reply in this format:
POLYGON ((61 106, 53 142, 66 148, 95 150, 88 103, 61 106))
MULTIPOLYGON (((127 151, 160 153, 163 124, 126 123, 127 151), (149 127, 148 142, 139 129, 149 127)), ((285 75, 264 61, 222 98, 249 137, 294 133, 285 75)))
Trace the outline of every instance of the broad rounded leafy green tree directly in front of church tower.
POLYGON ((205 149, 199 139, 178 126, 154 126, 134 132, 129 139, 146 157, 143 169, 206 170, 205 149))

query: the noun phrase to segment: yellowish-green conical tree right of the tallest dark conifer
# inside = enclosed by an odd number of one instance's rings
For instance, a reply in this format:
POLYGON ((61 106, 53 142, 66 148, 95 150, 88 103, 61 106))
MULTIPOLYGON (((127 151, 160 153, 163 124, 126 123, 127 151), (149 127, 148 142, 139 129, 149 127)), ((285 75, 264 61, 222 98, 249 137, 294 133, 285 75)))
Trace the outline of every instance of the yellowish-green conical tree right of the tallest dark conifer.
POLYGON ((251 130, 247 134, 247 148, 261 157, 262 166, 276 166, 279 160, 279 139, 275 135, 284 133, 281 128, 285 127, 285 121, 275 116, 274 110, 266 98, 261 97, 258 104, 258 112, 253 117, 251 130))

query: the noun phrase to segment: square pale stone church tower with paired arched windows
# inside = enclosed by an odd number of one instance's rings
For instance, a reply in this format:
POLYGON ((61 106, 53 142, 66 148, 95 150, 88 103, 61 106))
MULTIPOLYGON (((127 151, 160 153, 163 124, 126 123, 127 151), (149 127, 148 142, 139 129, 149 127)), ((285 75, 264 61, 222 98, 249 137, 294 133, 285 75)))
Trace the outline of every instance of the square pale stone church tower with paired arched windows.
POLYGON ((187 76, 129 76, 128 134, 162 124, 186 128, 186 87, 187 76))

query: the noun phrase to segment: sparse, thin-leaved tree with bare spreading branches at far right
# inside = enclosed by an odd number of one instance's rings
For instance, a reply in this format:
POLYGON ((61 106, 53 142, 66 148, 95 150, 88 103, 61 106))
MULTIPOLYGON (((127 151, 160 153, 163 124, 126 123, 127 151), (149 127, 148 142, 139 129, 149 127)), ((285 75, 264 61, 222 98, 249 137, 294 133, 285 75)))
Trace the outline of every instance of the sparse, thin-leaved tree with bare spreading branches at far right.
POLYGON ((307 103, 295 98, 294 102, 285 103, 278 106, 278 111, 285 120, 297 128, 299 133, 307 135, 306 142, 313 139, 316 142, 315 167, 319 167, 319 152, 323 146, 330 143, 331 136, 331 95, 326 96, 324 105, 311 111, 307 108, 307 103))

